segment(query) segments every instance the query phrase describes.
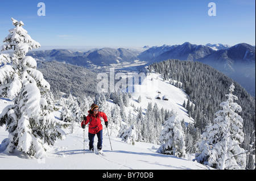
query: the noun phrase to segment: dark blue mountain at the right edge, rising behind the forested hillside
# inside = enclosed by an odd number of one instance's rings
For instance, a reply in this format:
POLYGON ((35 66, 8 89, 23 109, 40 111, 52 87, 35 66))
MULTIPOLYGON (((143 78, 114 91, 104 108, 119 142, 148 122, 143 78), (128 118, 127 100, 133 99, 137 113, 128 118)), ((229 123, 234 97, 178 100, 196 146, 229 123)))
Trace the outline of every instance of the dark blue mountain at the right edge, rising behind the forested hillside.
POLYGON ((213 52, 198 61, 228 75, 255 96, 255 47, 245 43, 237 44, 213 52))

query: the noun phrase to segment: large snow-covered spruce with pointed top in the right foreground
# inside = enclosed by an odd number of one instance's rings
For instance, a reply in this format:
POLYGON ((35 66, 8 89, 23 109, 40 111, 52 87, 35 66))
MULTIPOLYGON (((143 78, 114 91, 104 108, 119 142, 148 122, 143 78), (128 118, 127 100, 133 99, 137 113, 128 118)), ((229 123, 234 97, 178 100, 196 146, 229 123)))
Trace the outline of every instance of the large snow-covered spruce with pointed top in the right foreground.
POLYGON ((240 148, 243 142, 243 119, 236 111, 242 108, 234 100, 234 85, 229 87, 228 98, 220 106, 222 110, 216 112, 216 119, 212 125, 205 128, 202 141, 199 143, 200 154, 196 155, 197 161, 216 169, 245 169, 245 150, 240 148))

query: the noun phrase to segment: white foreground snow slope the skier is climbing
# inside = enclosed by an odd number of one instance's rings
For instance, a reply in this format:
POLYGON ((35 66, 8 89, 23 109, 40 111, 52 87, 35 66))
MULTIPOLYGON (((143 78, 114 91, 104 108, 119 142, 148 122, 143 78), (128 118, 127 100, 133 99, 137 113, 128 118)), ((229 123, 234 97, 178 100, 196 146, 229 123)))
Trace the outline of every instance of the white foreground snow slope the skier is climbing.
MULTIPOLYGON (((0 99, 0 112, 7 105, 11 104, 8 99, 0 99)), ((56 119, 59 119, 60 112, 55 112, 56 119)), ((104 129, 105 126, 104 126, 104 129)), ((121 141, 121 138, 110 136, 113 151, 110 148, 109 137, 104 135, 103 151, 105 156, 97 155, 88 149, 88 128, 85 129, 85 153, 84 153, 84 130, 79 124, 75 132, 69 129, 65 132, 65 140, 57 140, 52 148, 47 151, 44 159, 28 157, 20 152, 13 154, 5 153, 5 139, 8 132, 5 127, 0 127, 0 169, 86 169, 86 170, 208 170, 209 167, 191 161, 191 158, 181 159, 174 155, 156 153, 160 145, 136 142, 135 145, 121 141)), ((96 148, 97 137, 94 139, 96 148)))

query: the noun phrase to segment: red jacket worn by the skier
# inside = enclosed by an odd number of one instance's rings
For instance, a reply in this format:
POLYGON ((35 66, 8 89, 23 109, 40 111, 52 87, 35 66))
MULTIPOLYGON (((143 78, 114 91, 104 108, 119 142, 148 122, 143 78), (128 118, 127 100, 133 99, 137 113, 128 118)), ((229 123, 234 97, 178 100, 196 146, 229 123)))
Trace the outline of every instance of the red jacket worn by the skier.
POLYGON ((96 116, 94 116, 92 113, 89 113, 89 115, 86 116, 86 120, 82 120, 81 126, 89 123, 89 133, 97 134, 103 129, 100 119, 101 117, 105 122, 108 121, 108 117, 104 112, 98 112, 96 116))

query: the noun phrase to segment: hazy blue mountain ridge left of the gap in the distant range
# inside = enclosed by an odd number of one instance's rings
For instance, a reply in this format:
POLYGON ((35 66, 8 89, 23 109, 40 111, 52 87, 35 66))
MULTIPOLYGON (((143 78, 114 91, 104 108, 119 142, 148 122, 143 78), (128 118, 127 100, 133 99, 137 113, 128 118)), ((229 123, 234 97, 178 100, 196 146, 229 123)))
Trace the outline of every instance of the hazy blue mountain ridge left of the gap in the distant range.
POLYGON ((88 52, 72 52, 67 49, 39 50, 28 52, 27 56, 43 61, 59 61, 78 66, 106 66, 138 60, 137 53, 125 48, 101 48, 88 52))

